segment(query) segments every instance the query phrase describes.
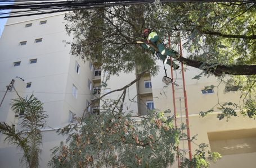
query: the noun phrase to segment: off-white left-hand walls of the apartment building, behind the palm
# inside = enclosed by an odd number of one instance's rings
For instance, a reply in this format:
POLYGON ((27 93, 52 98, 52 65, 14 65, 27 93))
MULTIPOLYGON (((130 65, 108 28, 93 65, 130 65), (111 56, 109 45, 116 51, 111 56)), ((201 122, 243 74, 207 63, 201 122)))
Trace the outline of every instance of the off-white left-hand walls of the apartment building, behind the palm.
MULTIPOLYGON (((92 78, 89 63, 83 63, 69 54, 70 45, 65 46, 65 43, 71 42, 73 37, 66 35, 63 18, 64 15, 10 18, 0 39, 0 96, 3 96, 12 78, 16 80, 15 77, 19 76, 24 79, 23 85, 17 85, 22 88, 18 90, 19 94, 25 96, 34 93, 43 102, 49 116, 46 125, 48 130, 43 131, 41 167, 47 167, 51 158, 50 149, 65 140, 57 136, 56 129, 68 124, 69 110, 82 116, 86 100, 92 96, 87 88, 87 79, 92 78), (39 25, 43 20, 47 20, 47 24, 39 25), (32 23, 32 27, 25 27, 29 23, 32 23), (43 39, 42 43, 34 43, 38 38, 43 39), (27 43, 21 46, 20 41, 27 43), (37 63, 30 64, 29 60, 35 58, 37 63), (76 60, 80 65, 79 74, 75 71, 76 60), (14 67, 13 63, 17 61, 21 61, 20 66, 14 67), (32 82, 30 88, 26 88, 26 82, 32 82), (77 99, 72 95, 73 84, 78 87, 77 99)), ((14 96, 14 92, 8 93, 6 101, 14 96)), ((8 102, 5 102, 6 113, 2 114, 2 109, 0 111, 2 122, 14 121, 8 102)), ((19 158, 22 152, 4 143, 3 137, 0 138, 1 167, 21 167, 19 158)))

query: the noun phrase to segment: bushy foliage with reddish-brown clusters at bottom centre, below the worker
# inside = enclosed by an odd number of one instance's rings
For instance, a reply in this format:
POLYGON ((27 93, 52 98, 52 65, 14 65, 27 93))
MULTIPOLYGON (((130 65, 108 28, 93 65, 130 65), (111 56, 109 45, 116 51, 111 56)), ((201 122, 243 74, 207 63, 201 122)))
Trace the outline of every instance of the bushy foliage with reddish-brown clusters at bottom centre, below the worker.
MULTIPOLYGON (((109 107, 110 108, 110 107, 109 107)), ((170 113, 170 111, 165 111, 170 113)), ((120 114, 107 109, 59 130, 68 144, 53 149, 51 167, 168 167, 173 164, 179 139, 186 134, 173 126, 173 117, 151 111, 148 116, 120 114)), ((202 153, 205 151, 200 147, 202 153)), ((179 155, 186 160, 184 153, 179 155)), ((212 154, 211 154, 212 155, 212 154)), ((195 166, 207 158, 195 155, 195 166)), ((214 156, 214 154, 211 156, 214 156)), ((183 167, 191 164, 183 162, 183 167)))

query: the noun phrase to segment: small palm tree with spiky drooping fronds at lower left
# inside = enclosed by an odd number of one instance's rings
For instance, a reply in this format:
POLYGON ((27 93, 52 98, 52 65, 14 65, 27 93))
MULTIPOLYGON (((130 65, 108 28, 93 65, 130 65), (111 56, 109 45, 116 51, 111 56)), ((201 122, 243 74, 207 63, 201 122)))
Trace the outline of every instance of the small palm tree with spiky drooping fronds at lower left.
POLYGON ((11 107, 19 118, 19 129, 14 124, 0 123, 0 132, 6 135, 5 141, 14 144, 23 151, 21 162, 26 162, 27 167, 39 167, 41 153, 41 130, 48 117, 43 111, 43 104, 34 95, 19 97, 12 100, 11 107))

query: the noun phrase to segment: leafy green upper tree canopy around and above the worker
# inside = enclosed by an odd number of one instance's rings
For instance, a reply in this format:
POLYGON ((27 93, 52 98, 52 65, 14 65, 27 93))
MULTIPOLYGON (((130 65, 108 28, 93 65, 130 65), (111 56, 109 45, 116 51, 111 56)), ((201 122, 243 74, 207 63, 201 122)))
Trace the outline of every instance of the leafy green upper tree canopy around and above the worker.
POLYGON ((220 66, 221 75, 227 71, 221 65, 255 64, 255 13, 254 3, 163 3, 80 10, 65 19, 66 30, 75 35, 71 53, 97 60, 111 74, 154 64, 155 58, 136 45, 149 27, 161 40, 170 34, 174 45, 181 32, 188 58, 204 62, 197 68, 213 73, 220 66))

